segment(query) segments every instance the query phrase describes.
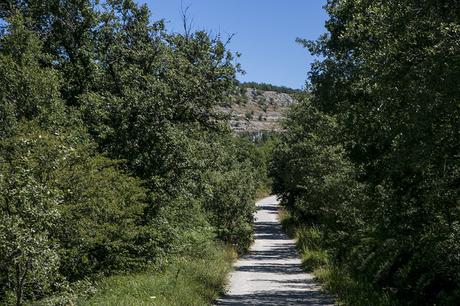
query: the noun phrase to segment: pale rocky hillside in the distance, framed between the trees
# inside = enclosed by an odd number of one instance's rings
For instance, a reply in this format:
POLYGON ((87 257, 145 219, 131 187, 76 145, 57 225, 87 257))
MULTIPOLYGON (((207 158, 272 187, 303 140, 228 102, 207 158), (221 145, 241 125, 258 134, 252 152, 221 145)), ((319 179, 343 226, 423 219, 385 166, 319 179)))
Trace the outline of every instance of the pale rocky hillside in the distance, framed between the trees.
POLYGON ((293 103, 290 94, 240 87, 230 97, 231 107, 224 109, 231 114, 230 127, 236 133, 281 131, 281 121, 293 103))

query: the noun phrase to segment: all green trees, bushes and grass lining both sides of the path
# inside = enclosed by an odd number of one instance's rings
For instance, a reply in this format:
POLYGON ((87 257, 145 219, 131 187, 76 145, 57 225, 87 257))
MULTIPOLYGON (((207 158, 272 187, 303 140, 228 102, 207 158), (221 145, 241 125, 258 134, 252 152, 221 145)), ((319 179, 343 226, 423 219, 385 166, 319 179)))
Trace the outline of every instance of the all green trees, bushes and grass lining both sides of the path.
POLYGON ((0 304, 209 304, 269 186, 343 303, 460 304, 458 1, 326 9, 300 92, 134 0, 2 3, 0 304), (229 131, 247 88, 295 95, 283 135, 229 131))

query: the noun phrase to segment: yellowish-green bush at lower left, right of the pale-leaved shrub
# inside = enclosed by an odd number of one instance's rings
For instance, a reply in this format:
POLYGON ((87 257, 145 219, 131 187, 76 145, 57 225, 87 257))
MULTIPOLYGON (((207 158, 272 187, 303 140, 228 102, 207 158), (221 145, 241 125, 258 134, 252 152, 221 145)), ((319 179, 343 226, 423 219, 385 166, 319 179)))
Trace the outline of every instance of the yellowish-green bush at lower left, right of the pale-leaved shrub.
POLYGON ((79 153, 55 174, 64 195, 55 232, 61 272, 75 280, 142 266, 144 259, 136 257, 146 199, 140 180, 106 157, 79 153))

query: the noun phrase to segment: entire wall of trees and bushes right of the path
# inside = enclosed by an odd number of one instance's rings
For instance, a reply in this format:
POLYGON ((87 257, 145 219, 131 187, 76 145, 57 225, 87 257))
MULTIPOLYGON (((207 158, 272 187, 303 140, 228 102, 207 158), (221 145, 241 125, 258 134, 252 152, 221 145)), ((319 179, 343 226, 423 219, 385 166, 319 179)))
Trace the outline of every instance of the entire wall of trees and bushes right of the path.
POLYGON ((273 190, 306 239, 321 236, 305 262, 348 305, 458 305, 458 3, 326 8, 328 33, 299 40, 324 59, 286 122, 273 190))

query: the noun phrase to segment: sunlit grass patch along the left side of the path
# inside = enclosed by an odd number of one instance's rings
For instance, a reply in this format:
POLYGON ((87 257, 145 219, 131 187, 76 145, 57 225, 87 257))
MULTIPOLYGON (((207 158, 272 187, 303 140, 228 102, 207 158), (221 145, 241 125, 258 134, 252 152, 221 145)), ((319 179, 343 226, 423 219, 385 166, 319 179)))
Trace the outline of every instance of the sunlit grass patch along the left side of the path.
POLYGON ((210 305, 223 292, 234 258, 230 248, 216 245, 205 258, 178 258, 163 272, 111 276, 77 305, 210 305))

